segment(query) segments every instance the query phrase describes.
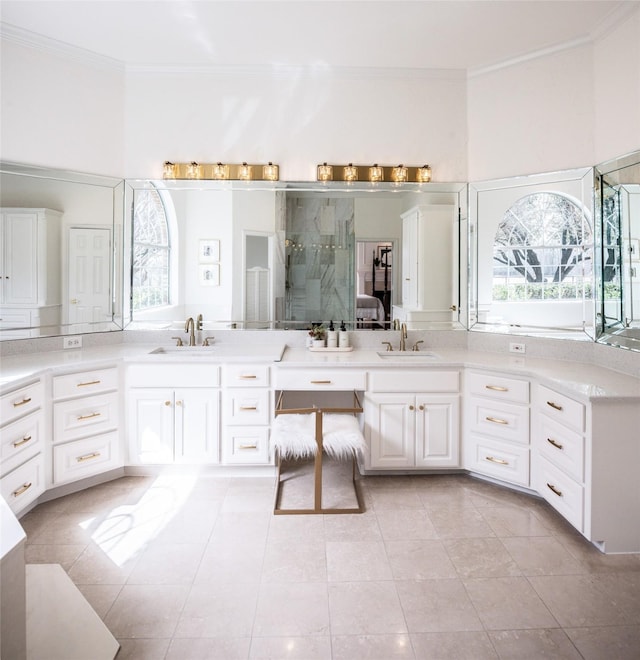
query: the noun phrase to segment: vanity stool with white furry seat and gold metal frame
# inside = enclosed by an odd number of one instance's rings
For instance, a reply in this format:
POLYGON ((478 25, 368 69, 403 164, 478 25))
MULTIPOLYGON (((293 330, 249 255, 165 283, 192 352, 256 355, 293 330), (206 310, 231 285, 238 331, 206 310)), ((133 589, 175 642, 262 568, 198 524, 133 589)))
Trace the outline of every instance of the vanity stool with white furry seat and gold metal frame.
POLYGON ((362 513, 364 505, 356 480, 356 458, 365 447, 364 437, 356 418, 362 412, 358 395, 353 392, 354 402, 348 408, 312 406, 310 408, 284 408, 284 392, 280 392, 276 405, 271 439, 276 451, 278 470, 274 514, 312 513, 362 513), (322 459, 326 453, 336 460, 351 459, 351 480, 357 506, 348 508, 324 508, 322 506, 322 459), (282 461, 313 458, 314 506, 311 509, 284 509, 280 506, 282 495, 282 461))

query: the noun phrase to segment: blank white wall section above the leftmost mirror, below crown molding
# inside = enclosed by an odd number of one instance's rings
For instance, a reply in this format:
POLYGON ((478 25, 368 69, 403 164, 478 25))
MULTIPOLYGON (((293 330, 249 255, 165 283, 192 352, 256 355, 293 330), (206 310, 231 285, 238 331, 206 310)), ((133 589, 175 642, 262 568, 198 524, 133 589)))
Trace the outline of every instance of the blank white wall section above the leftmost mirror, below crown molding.
POLYGON ((0 157, 121 177, 124 73, 1 40, 0 157))

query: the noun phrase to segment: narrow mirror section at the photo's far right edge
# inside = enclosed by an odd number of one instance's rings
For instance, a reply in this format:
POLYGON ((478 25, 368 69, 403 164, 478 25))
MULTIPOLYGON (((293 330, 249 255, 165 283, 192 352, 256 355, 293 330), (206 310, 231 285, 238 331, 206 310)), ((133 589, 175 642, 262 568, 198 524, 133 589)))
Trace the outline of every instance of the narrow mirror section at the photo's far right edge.
POLYGON ((596 166, 598 341, 640 350, 640 151, 596 166))

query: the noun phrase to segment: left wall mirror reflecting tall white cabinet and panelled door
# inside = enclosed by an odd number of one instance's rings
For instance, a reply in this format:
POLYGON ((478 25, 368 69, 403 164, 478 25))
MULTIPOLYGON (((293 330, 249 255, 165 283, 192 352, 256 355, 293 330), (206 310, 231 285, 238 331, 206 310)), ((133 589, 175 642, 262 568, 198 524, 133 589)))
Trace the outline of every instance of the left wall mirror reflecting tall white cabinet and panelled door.
POLYGON ((123 327, 124 182, 0 163, 0 338, 123 327))

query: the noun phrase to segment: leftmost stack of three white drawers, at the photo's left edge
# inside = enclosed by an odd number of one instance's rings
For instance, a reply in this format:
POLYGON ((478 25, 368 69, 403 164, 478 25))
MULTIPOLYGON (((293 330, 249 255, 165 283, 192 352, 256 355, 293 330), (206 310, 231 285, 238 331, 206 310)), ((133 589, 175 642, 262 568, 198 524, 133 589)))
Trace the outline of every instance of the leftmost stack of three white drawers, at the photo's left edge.
POLYGON ((0 493, 16 513, 45 489, 43 406, 40 380, 0 397, 0 493))

